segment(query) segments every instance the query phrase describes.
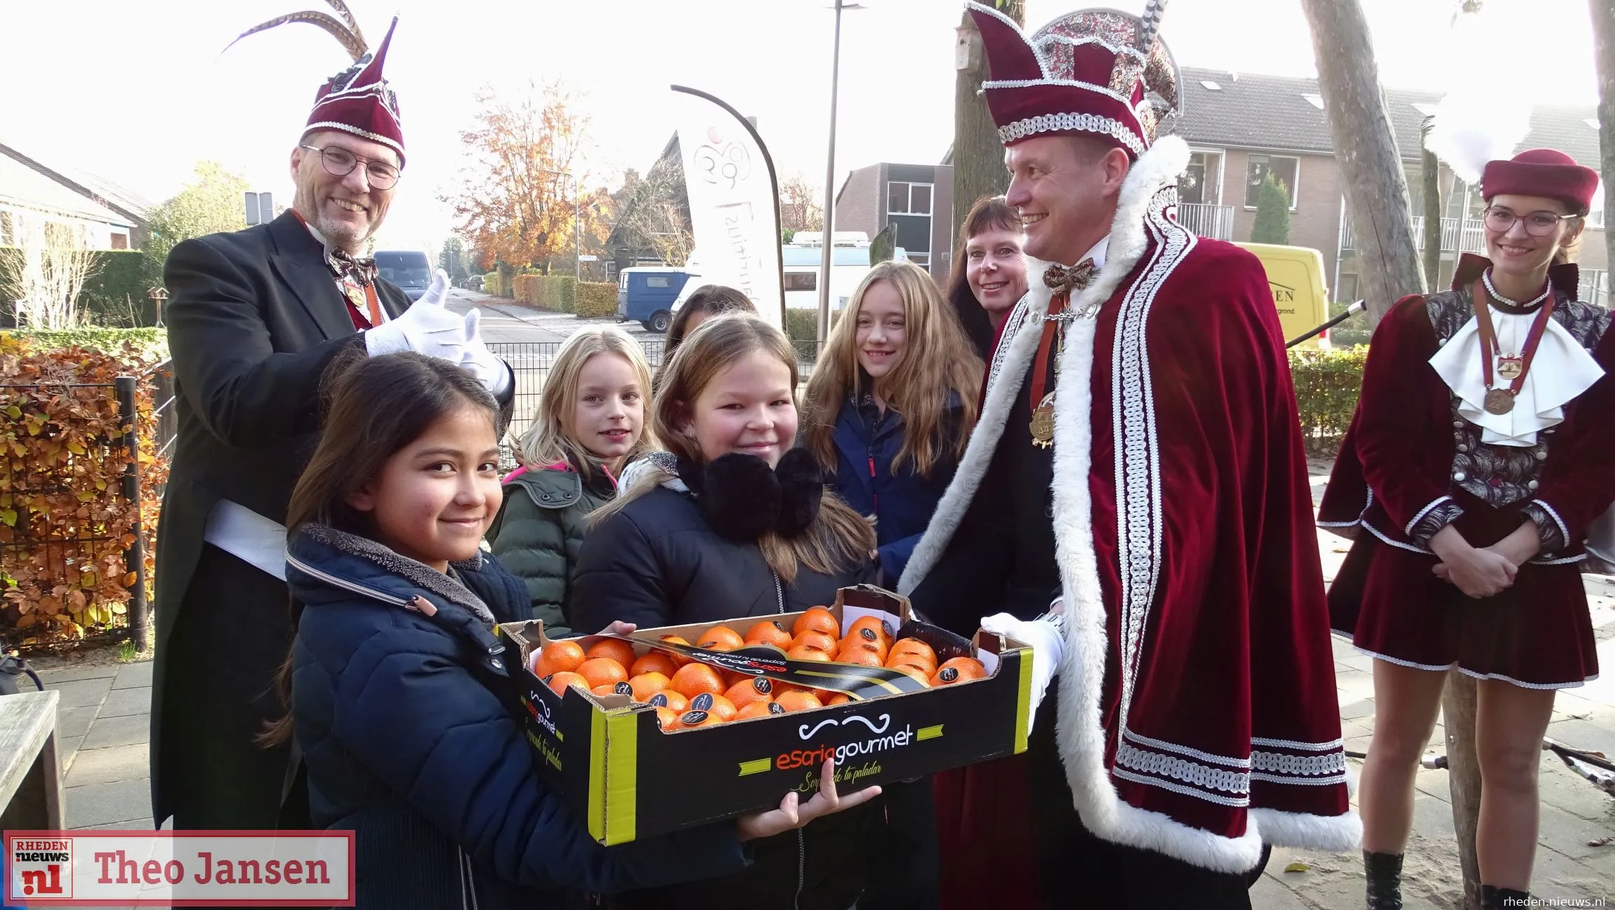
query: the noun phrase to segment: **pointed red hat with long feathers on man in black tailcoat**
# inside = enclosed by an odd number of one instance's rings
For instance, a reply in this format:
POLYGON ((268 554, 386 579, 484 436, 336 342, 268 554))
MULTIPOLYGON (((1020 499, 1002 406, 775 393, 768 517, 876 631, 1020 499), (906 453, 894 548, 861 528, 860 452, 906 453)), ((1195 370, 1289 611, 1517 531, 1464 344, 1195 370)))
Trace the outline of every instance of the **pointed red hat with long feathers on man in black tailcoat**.
MULTIPOLYGON (((341 129, 371 142, 389 145, 399 154, 399 163, 404 163, 404 129, 399 123, 399 99, 381 76, 381 66, 388 58, 388 45, 392 42, 392 29, 397 27, 399 19, 397 16, 392 18, 386 37, 381 39, 381 47, 375 53, 370 53, 365 36, 359 29, 359 19, 349 11, 347 3, 342 0, 326 0, 326 3, 341 18, 315 10, 286 13, 284 16, 275 16, 266 23, 252 26, 236 36, 236 40, 287 23, 307 23, 329 32, 354 58, 354 65, 326 79, 325 86, 320 86, 318 94, 315 94, 313 110, 308 113, 308 124, 304 128, 304 136, 321 129, 341 129)), ((229 42, 229 45, 233 47, 236 40, 229 42)), ((229 47, 224 50, 229 50, 229 47)))

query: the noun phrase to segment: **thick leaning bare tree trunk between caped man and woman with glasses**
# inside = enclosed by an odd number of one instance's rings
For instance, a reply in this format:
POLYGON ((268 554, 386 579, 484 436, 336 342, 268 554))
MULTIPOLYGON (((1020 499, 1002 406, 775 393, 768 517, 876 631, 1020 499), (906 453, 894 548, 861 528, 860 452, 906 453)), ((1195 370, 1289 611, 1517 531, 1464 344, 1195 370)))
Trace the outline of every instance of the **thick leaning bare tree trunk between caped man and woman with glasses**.
MULTIPOLYGON (((1597 0, 1594 0, 1597 2, 1597 0)), ((1311 24, 1318 91, 1329 113, 1345 210, 1357 238, 1358 288, 1370 323, 1403 294, 1424 289, 1407 178, 1379 91, 1379 66, 1360 0, 1302 0, 1311 24)))

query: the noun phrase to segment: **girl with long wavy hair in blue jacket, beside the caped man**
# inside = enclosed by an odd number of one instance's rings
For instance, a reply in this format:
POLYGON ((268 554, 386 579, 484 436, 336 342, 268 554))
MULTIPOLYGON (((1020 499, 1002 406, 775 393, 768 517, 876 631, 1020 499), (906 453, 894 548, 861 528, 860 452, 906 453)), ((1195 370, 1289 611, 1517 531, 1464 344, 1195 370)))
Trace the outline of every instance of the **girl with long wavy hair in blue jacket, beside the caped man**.
POLYGON ((911 262, 869 270, 808 381, 803 446, 874 516, 896 585, 975 427, 982 360, 937 283, 911 262))

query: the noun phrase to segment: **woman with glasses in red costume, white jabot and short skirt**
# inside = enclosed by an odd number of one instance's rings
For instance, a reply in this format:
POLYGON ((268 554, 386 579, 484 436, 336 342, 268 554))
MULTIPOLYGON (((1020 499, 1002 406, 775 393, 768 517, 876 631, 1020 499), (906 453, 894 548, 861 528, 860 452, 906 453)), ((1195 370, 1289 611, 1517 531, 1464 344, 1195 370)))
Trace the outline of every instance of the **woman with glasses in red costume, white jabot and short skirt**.
POLYGON ((1596 187, 1547 149, 1487 162, 1487 257, 1465 254, 1450 291, 1399 301, 1374 331, 1319 509, 1355 538, 1334 626, 1376 658, 1357 794, 1371 910, 1402 907, 1413 776, 1449 669, 1479 679, 1484 905, 1526 905, 1554 692, 1597 676, 1583 538, 1615 499, 1615 333, 1576 301, 1568 262, 1596 187))

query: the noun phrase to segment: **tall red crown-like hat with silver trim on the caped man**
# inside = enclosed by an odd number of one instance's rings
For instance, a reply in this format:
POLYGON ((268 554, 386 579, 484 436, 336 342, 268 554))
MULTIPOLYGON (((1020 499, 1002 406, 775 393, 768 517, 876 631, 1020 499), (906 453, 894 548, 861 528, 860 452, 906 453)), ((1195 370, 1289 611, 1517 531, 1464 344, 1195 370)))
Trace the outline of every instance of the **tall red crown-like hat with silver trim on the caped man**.
POLYGON ((1177 65, 1158 37, 1164 6, 1148 0, 1143 16, 1077 10, 1027 37, 1003 13, 966 3, 982 32, 982 94, 998 139, 1097 136, 1143 155, 1179 105, 1177 65))

